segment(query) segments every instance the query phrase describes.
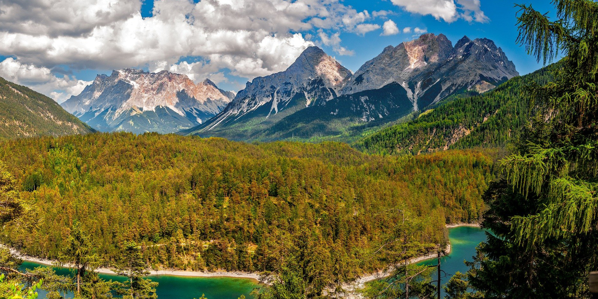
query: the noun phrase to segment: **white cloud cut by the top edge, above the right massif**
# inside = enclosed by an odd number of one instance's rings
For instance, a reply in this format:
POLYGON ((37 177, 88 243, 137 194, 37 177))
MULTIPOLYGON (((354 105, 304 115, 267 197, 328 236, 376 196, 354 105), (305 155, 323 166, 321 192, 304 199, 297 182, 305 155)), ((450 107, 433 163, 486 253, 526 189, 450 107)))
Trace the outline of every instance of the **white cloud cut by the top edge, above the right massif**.
POLYGON ((480 0, 390 0, 410 13, 431 15, 437 20, 451 23, 462 18, 468 22, 488 22, 480 8, 480 0))

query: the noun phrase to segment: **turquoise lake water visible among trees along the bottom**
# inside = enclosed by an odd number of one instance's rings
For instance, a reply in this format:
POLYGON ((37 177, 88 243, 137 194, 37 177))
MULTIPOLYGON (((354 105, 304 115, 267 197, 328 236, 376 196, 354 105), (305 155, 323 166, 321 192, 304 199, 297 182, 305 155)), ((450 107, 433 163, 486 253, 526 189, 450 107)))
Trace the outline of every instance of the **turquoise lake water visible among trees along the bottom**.
MULTIPOLYGON (((465 273, 468 268, 463 264, 463 260, 472 260, 475 255, 475 246, 486 240, 484 230, 477 227, 454 227, 449 228, 449 239, 451 243, 451 252, 447 257, 441 260, 442 270, 447 274, 454 274, 456 271, 465 273)), ((419 264, 436 265, 437 260, 421 261, 419 264)), ((40 264, 25 261, 21 270, 33 269, 40 264)), ((58 274, 68 274, 68 269, 54 268, 58 274)), ((111 274, 100 274, 104 279, 123 281, 124 277, 111 274)), ((205 294, 209 299, 237 299, 240 295, 251 298, 249 293, 257 287, 257 282, 253 279, 236 277, 188 277, 188 276, 149 276, 155 282, 158 282, 158 298, 160 299, 193 299, 202 297, 205 294)), ((446 283, 450 276, 444 277, 442 283, 446 283)), ((443 292, 444 296, 444 292, 443 292)), ((39 298, 45 298, 44 292, 40 292, 39 298)), ((72 295, 66 296, 72 298, 72 295)))

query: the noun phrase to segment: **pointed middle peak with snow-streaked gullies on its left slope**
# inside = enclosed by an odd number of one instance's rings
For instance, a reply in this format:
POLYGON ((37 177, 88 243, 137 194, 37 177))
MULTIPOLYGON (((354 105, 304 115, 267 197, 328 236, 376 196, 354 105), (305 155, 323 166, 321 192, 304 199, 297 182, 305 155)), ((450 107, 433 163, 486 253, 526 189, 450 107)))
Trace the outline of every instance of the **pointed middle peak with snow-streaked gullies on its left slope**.
POLYGON ((288 69, 248 82, 224 111, 181 133, 255 138, 283 117, 334 99, 351 74, 320 48, 309 47, 288 69))

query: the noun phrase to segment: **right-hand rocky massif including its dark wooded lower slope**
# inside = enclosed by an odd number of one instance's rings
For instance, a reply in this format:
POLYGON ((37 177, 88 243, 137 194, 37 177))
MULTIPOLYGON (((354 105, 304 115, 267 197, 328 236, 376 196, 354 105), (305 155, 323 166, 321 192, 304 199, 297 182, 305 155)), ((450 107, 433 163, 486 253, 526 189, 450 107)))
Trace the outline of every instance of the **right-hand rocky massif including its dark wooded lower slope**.
POLYGON ((263 141, 310 138, 389 123, 453 94, 482 93, 517 75, 490 39, 464 36, 453 47, 446 36, 428 33, 386 47, 347 81, 341 96, 289 115, 255 136, 263 141))

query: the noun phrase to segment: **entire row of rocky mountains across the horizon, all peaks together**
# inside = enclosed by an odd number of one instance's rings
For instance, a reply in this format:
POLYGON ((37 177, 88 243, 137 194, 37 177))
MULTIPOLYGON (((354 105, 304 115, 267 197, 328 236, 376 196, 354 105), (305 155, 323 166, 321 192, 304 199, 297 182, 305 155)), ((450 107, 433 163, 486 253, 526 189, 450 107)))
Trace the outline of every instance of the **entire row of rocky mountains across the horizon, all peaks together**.
POLYGON ((453 94, 478 94, 518 76, 490 39, 427 33, 388 46, 353 74, 308 47, 288 69, 254 78, 237 94, 186 75, 121 69, 97 75, 62 106, 101 131, 220 136, 233 140, 309 137, 425 111, 453 94))

